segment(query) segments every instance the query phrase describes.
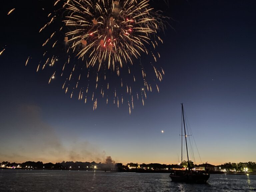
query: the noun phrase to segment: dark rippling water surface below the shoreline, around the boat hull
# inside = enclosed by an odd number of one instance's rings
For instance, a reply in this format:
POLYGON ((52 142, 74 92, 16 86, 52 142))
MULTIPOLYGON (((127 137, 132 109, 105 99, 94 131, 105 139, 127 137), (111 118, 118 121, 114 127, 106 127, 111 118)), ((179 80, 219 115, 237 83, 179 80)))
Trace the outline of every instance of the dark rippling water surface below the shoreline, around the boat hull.
POLYGON ((256 175, 212 174, 207 184, 171 182, 166 173, 0 170, 0 191, 255 192, 256 175))

